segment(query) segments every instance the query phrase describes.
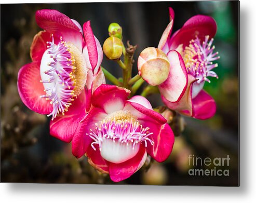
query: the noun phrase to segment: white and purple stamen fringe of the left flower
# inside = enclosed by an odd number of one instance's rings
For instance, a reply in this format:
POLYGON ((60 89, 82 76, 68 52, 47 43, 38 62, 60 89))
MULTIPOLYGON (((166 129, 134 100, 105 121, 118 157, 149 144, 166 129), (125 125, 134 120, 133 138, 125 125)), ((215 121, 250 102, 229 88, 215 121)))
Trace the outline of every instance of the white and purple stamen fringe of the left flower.
POLYGON ((49 75, 48 80, 41 80, 41 83, 50 84, 44 91, 45 95, 41 98, 51 100, 50 103, 53 106, 52 112, 48 115, 52 115, 52 119, 59 113, 64 115, 65 111, 68 111, 71 101, 74 97, 74 88, 76 81, 73 76, 73 72, 76 67, 74 66, 75 59, 72 57, 69 47, 60 38, 58 45, 52 42, 47 42, 47 54, 52 59, 47 65, 50 66, 49 70, 44 71, 44 74, 49 75))

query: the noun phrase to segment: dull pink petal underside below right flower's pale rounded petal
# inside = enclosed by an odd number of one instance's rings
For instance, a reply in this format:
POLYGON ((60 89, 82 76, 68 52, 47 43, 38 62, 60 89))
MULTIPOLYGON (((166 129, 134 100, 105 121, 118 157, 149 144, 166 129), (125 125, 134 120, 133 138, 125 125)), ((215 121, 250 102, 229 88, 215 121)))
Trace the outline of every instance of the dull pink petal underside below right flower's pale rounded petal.
POLYGON ((166 99, 164 96, 161 96, 164 104, 171 110, 178 111, 179 113, 186 115, 186 116, 192 116, 193 114, 193 108, 192 108, 192 85, 194 82, 197 81, 192 75, 188 74, 188 84, 187 88, 185 90, 185 93, 183 94, 182 98, 178 102, 170 102, 168 99, 166 99))

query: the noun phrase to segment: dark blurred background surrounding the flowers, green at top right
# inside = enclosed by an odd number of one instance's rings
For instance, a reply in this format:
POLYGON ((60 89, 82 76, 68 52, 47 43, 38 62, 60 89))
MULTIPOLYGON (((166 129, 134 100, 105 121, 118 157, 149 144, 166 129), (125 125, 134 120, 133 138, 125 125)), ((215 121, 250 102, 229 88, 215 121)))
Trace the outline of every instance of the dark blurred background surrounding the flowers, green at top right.
MULTIPOLYGON (((150 3, 77 3, 77 4, 11 4, 1 5, 1 182, 30 183, 106 183, 156 185, 223 185, 239 182, 239 2, 150 2, 150 3), (214 38, 220 53, 214 69, 219 79, 211 78, 205 89, 217 103, 217 113, 208 120, 184 117, 185 130, 176 137, 173 152, 165 163, 153 162, 131 178, 113 183, 99 174, 86 160, 76 159, 71 144, 49 135, 49 119, 30 111, 17 91, 17 74, 22 65, 31 62, 30 46, 41 29, 35 22, 38 9, 57 9, 83 24, 91 20, 101 45, 108 37, 111 22, 123 27, 124 42, 138 45, 134 59, 146 47, 157 47, 169 23, 168 7, 175 11, 173 32, 197 14, 212 16, 218 25, 214 38), (230 156, 230 175, 190 176, 188 156, 230 156)), ((102 65, 115 76, 122 71, 103 59, 102 65)), ((136 74, 136 63, 133 66, 136 74)), ((140 89, 140 91, 143 87, 140 89)), ((161 105, 159 95, 149 97, 153 107, 161 105)), ((196 166, 196 169, 211 169, 196 166)))

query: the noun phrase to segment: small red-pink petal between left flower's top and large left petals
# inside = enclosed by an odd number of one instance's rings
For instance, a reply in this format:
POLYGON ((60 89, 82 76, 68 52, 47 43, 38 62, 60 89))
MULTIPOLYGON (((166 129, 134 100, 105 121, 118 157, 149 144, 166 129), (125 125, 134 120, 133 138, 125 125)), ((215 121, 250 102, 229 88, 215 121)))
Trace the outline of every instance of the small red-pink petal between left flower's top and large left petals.
MULTIPOLYGON (((55 37, 55 42, 59 43, 59 38, 55 37)), ((38 32, 33 39, 30 47, 30 57, 32 61, 41 61, 44 52, 47 49, 47 42, 52 41, 52 36, 46 31, 38 32)))

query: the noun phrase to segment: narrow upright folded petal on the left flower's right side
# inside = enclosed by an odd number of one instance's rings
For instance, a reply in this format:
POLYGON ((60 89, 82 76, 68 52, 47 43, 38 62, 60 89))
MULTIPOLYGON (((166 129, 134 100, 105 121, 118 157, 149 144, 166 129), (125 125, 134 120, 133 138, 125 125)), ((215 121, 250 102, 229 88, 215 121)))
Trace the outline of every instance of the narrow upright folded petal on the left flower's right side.
POLYGON ((103 51, 99 40, 93 35, 90 21, 84 23, 83 29, 86 43, 83 53, 88 67, 91 67, 93 74, 96 74, 103 60, 103 51))

